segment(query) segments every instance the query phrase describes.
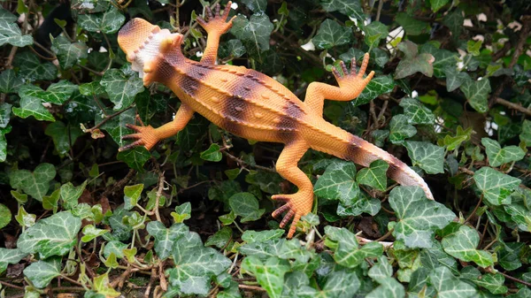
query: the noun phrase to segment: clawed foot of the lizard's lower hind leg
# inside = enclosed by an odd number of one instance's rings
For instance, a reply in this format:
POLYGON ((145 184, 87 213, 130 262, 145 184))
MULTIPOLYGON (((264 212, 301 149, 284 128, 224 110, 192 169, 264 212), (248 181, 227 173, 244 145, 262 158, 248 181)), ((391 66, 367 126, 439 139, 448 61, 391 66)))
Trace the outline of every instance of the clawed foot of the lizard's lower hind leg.
POLYGON ((281 228, 288 225, 289 220, 293 218, 291 225, 289 226, 287 238, 293 237, 296 231, 296 224, 298 223, 299 219, 302 216, 310 213, 312 210, 313 193, 298 192, 293 195, 273 195, 271 196, 271 199, 274 201, 286 202, 279 209, 274 210, 272 215, 273 218, 277 218, 283 212, 288 211, 281 220, 281 228))

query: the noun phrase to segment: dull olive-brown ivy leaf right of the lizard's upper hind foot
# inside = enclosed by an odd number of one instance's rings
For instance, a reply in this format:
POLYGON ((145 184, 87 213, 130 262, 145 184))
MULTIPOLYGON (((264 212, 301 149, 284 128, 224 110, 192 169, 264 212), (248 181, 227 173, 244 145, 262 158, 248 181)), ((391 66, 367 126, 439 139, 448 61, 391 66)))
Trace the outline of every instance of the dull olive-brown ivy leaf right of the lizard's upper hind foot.
POLYGON ((405 57, 396 66, 395 80, 404 79, 413 73, 422 73, 431 78, 435 57, 428 53, 419 54, 417 45, 410 41, 398 43, 398 50, 404 52, 405 57))

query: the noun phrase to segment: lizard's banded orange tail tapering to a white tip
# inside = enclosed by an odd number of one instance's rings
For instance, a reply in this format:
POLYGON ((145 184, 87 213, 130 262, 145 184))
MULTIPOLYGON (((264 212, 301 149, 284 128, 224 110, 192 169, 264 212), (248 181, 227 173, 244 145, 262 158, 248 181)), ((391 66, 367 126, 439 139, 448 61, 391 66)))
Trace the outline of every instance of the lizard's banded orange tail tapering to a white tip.
MULTIPOLYGON (((333 126, 330 123, 325 126, 327 126, 326 129, 319 132, 319 138, 314 136, 312 141, 308 141, 310 144, 315 144, 315 146, 311 145, 312 149, 327 152, 335 157, 350 160, 363 166, 369 166, 373 161, 381 159, 389 164, 387 175, 390 179, 404 186, 421 187, 427 198, 434 200, 434 195, 431 193, 426 181, 400 159, 337 126, 333 126), (325 131, 331 132, 331 134, 327 134, 325 131)), ((313 135, 315 133, 314 131, 313 135)))

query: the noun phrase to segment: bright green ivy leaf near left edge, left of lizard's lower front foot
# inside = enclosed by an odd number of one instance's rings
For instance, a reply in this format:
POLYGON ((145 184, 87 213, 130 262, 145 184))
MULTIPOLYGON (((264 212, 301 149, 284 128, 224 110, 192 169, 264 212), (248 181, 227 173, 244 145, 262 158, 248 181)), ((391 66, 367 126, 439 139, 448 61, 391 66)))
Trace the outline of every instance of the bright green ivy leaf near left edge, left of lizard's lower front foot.
POLYGON ((35 88, 37 87, 33 85, 23 85, 19 88, 20 107, 13 107, 13 114, 20 118, 33 116, 35 119, 41 121, 55 121, 55 118, 51 116, 50 111, 42 105, 41 99, 29 95, 29 93, 32 90, 35 90, 35 88))

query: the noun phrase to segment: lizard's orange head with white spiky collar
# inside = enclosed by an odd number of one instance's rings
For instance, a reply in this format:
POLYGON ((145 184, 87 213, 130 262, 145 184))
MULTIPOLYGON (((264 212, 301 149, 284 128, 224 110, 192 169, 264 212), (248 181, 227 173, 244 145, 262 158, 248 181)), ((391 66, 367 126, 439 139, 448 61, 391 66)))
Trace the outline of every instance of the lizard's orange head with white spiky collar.
POLYGON ((157 57, 169 47, 180 51, 181 40, 182 34, 172 34, 168 29, 138 18, 128 21, 118 33, 119 47, 126 53, 127 61, 131 62, 131 69, 144 79, 144 84, 149 82, 144 73, 150 73, 157 57))

